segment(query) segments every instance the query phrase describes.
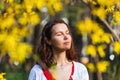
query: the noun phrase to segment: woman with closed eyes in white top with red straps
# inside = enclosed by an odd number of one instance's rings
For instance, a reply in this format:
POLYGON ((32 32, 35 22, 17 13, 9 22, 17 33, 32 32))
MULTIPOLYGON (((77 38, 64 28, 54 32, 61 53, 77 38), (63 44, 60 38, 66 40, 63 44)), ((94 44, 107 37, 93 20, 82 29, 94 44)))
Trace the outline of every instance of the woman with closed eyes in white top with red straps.
POLYGON ((61 19, 48 22, 42 31, 40 60, 28 80, 89 80, 86 67, 76 62, 69 26, 61 19))

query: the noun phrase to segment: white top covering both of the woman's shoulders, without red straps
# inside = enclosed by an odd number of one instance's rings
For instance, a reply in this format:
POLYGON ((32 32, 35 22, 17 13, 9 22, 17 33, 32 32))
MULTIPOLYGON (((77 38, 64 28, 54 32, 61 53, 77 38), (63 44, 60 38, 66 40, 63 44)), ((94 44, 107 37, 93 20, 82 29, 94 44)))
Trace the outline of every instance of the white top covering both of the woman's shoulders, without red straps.
MULTIPOLYGON (((73 63, 74 73, 72 75, 72 80, 89 80, 89 75, 86 67, 79 62, 73 61, 73 63)), ((47 79, 42 71, 42 68, 36 64, 31 69, 28 80, 47 80, 47 79)))

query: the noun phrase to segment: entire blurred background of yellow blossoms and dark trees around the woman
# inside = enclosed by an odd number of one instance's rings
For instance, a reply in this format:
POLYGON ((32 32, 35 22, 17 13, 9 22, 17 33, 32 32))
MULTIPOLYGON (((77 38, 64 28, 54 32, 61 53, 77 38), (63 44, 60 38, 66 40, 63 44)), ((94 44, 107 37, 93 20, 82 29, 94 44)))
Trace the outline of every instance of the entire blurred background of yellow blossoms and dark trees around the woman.
POLYGON ((0 80, 27 80, 41 30, 62 18, 90 80, 120 80, 120 0, 0 0, 0 80))

